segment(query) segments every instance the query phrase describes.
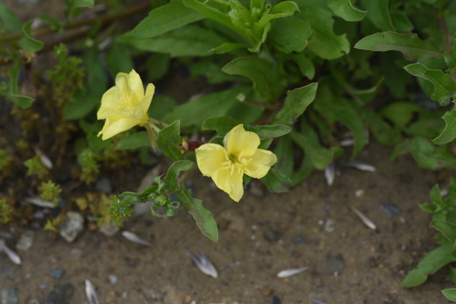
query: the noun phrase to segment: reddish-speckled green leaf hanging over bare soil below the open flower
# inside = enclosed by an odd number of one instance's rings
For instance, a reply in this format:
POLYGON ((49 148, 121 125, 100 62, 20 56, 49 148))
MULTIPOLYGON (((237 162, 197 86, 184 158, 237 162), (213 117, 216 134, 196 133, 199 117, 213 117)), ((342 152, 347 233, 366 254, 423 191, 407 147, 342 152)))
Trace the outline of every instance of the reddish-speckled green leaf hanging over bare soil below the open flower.
POLYGON ((212 241, 218 241, 217 223, 212 217, 212 213, 202 206, 202 200, 192 198, 191 192, 185 187, 181 187, 176 194, 177 198, 184 205, 184 210, 192 214, 201 229, 202 234, 210 238, 212 241))

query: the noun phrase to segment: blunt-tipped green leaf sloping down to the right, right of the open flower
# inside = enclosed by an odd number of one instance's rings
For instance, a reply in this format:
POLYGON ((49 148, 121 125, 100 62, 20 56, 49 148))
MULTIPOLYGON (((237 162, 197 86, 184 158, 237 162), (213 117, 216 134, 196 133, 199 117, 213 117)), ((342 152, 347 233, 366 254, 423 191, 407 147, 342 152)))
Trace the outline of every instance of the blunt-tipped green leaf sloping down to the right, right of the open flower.
MULTIPOLYGON (((308 127, 310 128, 310 126, 308 127)), ((301 130, 301 133, 298 133, 293 130, 290 132, 290 136, 311 157, 312 164, 317 169, 323 170, 332 161, 333 152, 313 141, 307 132, 308 130, 301 130)))

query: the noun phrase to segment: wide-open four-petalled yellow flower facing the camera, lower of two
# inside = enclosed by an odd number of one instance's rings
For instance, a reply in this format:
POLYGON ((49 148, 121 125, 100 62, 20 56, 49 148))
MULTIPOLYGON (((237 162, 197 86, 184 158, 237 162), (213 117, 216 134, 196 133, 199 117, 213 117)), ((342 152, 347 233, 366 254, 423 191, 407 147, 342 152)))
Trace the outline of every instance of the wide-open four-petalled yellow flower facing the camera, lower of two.
POLYGON ((212 177, 217 187, 239 202, 244 194, 242 176, 261 178, 277 162, 275 154, 258 149, 258 134, 237 125, 223 138, 223 146, 206 143, 196 152, 198 168, 202 175, 212 177))

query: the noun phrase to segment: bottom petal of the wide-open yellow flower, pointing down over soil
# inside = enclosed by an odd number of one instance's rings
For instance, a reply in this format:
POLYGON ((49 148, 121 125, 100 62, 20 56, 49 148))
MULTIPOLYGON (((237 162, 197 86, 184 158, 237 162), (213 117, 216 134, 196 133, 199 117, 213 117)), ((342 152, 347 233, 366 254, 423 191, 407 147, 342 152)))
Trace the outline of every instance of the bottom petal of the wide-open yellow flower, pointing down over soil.
POLYGON ((220 167, 212 173, 212 180, 217 187, 229 194, 229 197, 235 201, 239 200, 244 195, 244 187, 242 187, 242 176, 244 173, 241 170, 230 170, 229 167, 220 167))

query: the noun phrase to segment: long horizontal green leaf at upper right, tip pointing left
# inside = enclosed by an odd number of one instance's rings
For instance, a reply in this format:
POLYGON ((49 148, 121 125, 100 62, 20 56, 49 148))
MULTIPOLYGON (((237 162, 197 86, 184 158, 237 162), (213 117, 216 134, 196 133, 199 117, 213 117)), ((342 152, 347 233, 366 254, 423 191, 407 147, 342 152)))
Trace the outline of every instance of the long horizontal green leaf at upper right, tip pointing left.
POLYGON ((423 61, 428 57, 442 56, 432 42, 422 41, 416 34, 375 33, 364 37, 354 47, 369 51, 399 51, 409 61, 423 61))

